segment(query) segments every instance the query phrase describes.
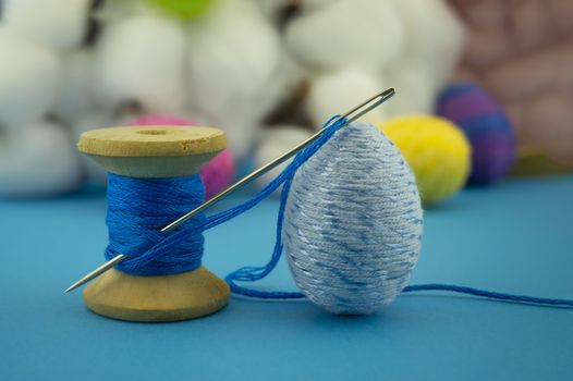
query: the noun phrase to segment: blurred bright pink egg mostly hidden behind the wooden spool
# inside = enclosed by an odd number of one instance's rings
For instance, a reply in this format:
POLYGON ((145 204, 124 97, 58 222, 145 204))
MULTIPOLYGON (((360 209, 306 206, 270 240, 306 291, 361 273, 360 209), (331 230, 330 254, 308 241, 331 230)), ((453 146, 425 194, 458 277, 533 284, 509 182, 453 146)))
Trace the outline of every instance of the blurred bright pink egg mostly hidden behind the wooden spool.
MULTIPOLYGON (((147 115, 136 119, 132 125, 196 125, 196 123, 176 116, 147 115)), ((235 177, 235 161, 229 149, 224 149, 212 158, 199 171, 205 184, 205 199, 216 196, 227 188, 235 177)))

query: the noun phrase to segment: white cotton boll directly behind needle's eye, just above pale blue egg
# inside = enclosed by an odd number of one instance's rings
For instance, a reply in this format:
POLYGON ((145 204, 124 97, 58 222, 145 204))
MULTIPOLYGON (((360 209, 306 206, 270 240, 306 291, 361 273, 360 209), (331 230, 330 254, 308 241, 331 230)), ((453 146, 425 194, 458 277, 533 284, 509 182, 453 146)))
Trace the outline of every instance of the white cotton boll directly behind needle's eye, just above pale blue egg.
MULTIPOLYGON (((313 78, 306 99, 306 109, 315 128, 319 128, 332 115, 346 112, 359 102, 385 88, 379 76, 358 70, 346 69, 313 78)), ((362 118, 366 123, 376 123, 383 118, 377 108, 362 118)))

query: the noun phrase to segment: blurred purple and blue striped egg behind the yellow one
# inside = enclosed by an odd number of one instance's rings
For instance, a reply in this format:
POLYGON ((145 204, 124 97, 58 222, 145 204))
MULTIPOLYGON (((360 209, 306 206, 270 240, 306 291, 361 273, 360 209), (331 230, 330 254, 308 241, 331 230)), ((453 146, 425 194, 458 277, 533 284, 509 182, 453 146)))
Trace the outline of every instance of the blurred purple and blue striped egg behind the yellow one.
POLYGON ((472 144, 468 183, 491 184, 512 167, 515 135, 499 103, 472 83, 449 86, 440 96, 437 113, 458 124, 472 144))

